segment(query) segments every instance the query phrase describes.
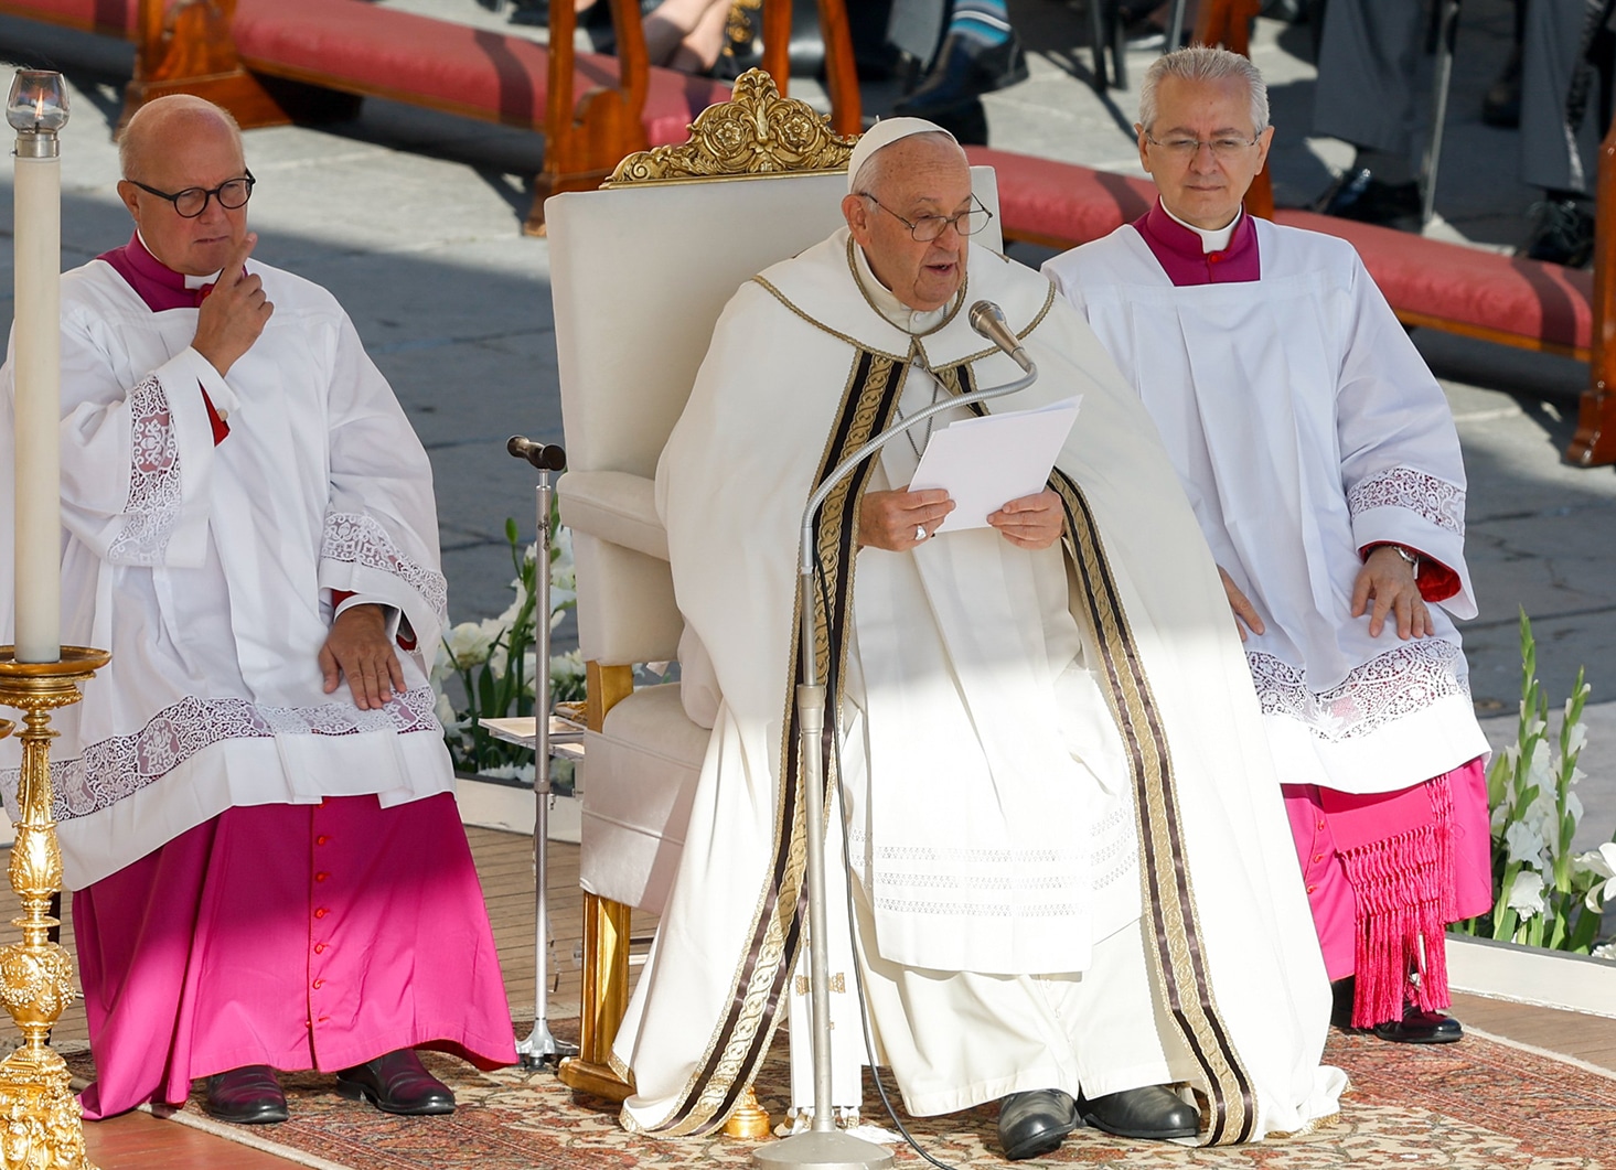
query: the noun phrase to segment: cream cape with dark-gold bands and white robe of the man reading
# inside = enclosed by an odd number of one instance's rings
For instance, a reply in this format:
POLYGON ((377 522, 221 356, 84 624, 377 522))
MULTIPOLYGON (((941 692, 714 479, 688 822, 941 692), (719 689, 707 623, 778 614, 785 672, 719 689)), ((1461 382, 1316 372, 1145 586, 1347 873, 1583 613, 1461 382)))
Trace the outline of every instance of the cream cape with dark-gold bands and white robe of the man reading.
MULTIPOLYGON (((705 648, 687 679, 709 659, 722 698, 616 1046, 637 1086, 624 1120, 722 1123, 784 1007, 806 923, 792 682, 808 604, 856 952, 908 1110, 1176 1081, 1210 1102, 1206 1141, 1302 1130, 1343 1078, 1319 1063, 1327 986, 1215 567, 1081 318, 997 254, 971 247, 968 268, 934 314, 898 304, 845 229, 766 270, 724 310, 663 452, 674 585, 705 648), (900 414, 1018 377, 966 325, 979 297, 1041 370, 994 409, 1084 396, 1050 477, 1068 540, 1031 553, 973 528, 860 551, 860 498, 908 483, 921 425, 832 491, 824 588, 798 598, 802 509, 826 470, 900 414)), ((845 932, 839 903, 831 923, 845 932)))

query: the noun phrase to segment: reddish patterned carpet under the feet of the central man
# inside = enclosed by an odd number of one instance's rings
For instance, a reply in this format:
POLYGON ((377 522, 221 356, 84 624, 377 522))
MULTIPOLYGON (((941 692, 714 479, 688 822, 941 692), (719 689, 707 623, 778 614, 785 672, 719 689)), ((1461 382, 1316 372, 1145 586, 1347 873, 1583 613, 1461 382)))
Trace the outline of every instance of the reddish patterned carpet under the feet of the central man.
MULTIPOLYGON (((577 1021, 558 1021, 566 1037, 577 1021)), ((575 1039, 575 1037, 569 1037, 575 1039)), ((1130 1143, 1079 1130, 1046 1164, 1155 1170, 1333 1170, 1335 1167, 1445 1167, 1446 1170, 1616 1170, 1616 1078, 1482 1037, 1445 1047, 1398 1047, 1332 1033, 1325 1057, 1353 1078, 1336 1125, 1307 1138, 1215 1151, 1130 1143)), ((630 1170, 635 1167, 743 1167, 753 1143, 656 1143, 622 1131, 616 1109, 574 1096, 548 1071, 477 1073, 427 1054, 449 1081, 459 1109, 443 1118, 396 1118, 339 1099, 331 1080, 286 1078, 292 1120, 278 1126, 223 1126, 200 1117, 197 1101, 176 1120, 200 1118, 215 1133, 305 1165, 352 1170, 630 1170)), ((71 1060, 89 1073, 84 1057, 71 1060)), ((758 1096, 779 1118, 787 1073, 784 1044, 760 1078, 758 1096)), ((866 1088, 866 1120, 879 1099, 866 1088)), ((911 1122, 928 1151, 957 1167, 1002 1167, 995 1107, 911 1122)), ((924 1165, 898 1146, 900 1165, 924 1165)), ((1037 1165, 1029 1162, 1023 1165, 1037 1165)))

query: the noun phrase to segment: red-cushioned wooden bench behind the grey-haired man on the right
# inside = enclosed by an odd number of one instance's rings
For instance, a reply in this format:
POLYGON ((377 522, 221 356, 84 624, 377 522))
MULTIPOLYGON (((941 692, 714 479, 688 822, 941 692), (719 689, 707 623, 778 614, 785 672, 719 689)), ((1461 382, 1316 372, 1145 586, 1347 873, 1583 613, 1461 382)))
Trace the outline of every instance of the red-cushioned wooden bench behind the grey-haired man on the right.
MULTIPOLYGON (((966 147, 973 163, 999 176, 999 212, 1005 239, 1073 247, 1131 223, 1155 202, 1149 179, 1094 171, 1047 158, 966 147)), ((1606 149, 1611 155, 1611 149, 1606 149)), ((1608 184, 1601 181, 1601 192, 1608 184)), ((1601 210, 1610 204, 1601 194, 1601 210)), ((1349 241, 1398 318, 1524 349, 1590 362, 1598 404, 1584 401, 1584 431, 1568 459, 1582 465, 1616 461, 1616 425, 1595 425, 1590 409, 1610 412, 1605 347, 1595 336, 1595 273, 1462 244, 1424 239, 1390 228, 1336 220, 1312 212, 1278 210, 1275 221, 1349 241)), ((1613 271, 1601 247, 1600 271, 1613 271)), ((1603 309, 1603 305, 1601 305, 1603 309)), ((1613 357, 1616 357, 1616 346, 1613 357)), ((1616 423, 1616 417, 1610 419, 1616 423)))

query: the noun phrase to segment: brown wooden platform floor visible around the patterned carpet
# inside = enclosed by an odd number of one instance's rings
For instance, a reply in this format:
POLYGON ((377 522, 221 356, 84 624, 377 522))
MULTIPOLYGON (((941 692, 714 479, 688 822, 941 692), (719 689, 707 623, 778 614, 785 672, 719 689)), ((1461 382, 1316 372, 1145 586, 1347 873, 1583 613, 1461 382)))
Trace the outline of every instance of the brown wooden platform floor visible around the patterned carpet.
MULTIPOLYGON (((533 844, 528 837, 493 829, 467 829, 477 869, 488 899, 511 995, 511 1015, 527 1034, 533 1018, 533 844)), ((3 855, 3 853, 0 853, 3 855)), ((575 952, 582 941, 579 894, 579 847, 549 847, 549 911, 554 926, 556 979, 549 997, 549 1016, 561 1020, 579 1012, 579 966, 575 952)), ((73 945, 71 915, 65 915, 63 942, 73 945)), ((648 937, 656 929, 650 915, 635 916, 635 937, 648 937)), ((0 929, 0 942, 16 939, 16 929, 0 929)), ((1616 1020, 1522 1007, 1479 995, 1456 995, 1454 1015, 1480 1031, 1530 1044, 1561 1055, 1576 1057, 1616 1073, 1616 1020)), ((60 1046, 79 1046, 89 1039, 84 1008, 74 1004, 61 1018, 53 1036, 60 1046)), ((273 1141, 273 1128, 263 1133, 273 1141)), ((160 1122, 150 1113, 126 1113, 110 1122, 84 1126, 90 1157, 102 1170, 286 1170, 286 1162, 246 1146, 191 1130, 173 1122, 160 1122)))

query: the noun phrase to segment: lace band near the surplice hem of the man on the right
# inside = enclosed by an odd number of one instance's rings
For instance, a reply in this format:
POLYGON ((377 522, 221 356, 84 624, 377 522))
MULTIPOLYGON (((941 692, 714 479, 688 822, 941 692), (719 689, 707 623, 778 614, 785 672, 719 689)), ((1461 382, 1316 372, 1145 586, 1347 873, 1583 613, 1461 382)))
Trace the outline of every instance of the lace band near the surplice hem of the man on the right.
POLYGON ((1264 714, 1306 724, 1322 740, 1357 739, 1424 711, 1440 698, 1469 698, 1459 677, 1462 654, 1451 642, 1420 638, 1378 654, 1325 692, 1307 690, 1301 671, 1273 654, 1248 651, 1264 714))

